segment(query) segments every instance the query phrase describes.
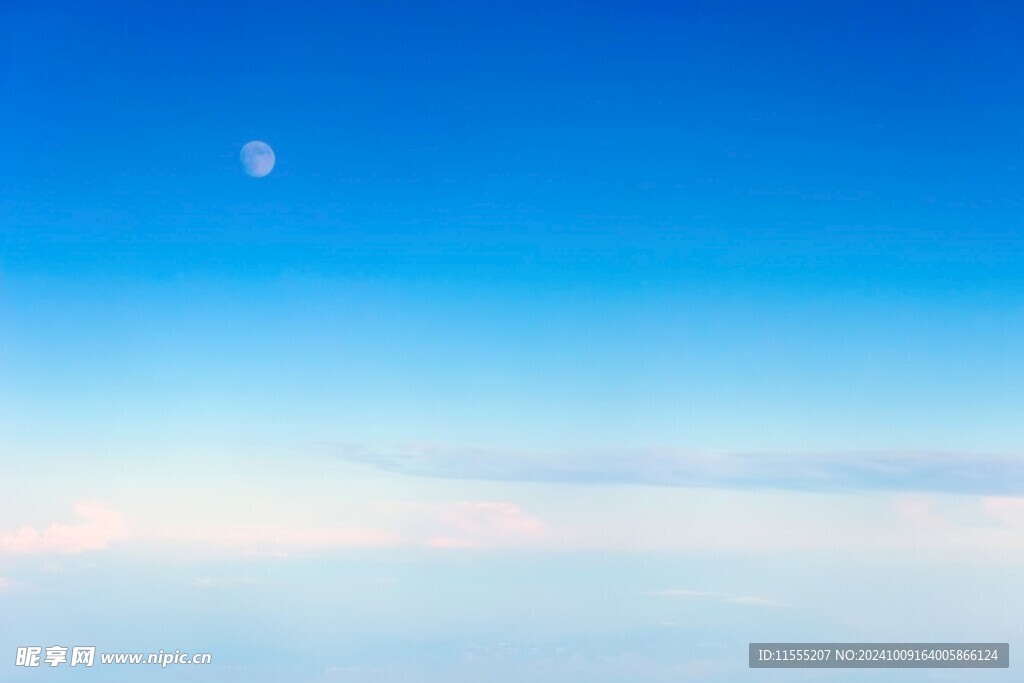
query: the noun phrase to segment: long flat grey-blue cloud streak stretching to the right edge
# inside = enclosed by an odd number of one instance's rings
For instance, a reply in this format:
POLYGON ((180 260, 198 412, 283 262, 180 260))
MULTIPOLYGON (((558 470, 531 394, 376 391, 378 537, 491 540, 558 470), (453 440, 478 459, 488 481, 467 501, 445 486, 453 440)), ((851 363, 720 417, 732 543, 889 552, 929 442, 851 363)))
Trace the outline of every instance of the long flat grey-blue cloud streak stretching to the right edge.
POLYGON ((963 453, 699 454, 675 450, 514 453, 408 444, 344 445, 338 457, 378 470, 443 479, 628 483, 814 492, 1024 494, 1024 457, 963 453))

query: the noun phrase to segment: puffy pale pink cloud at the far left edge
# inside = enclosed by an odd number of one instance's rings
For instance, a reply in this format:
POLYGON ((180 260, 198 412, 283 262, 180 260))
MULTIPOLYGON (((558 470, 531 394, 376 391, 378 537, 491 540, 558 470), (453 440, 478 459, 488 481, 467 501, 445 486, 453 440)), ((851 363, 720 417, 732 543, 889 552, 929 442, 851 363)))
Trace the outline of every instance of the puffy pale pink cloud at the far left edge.
POLYGON ((0 533, 0 554, 74 554, 100 550, 128 537, 120 513, 98 503, 80 503, 77 523, 54 523, 40 530, 34 526, 0 533))

